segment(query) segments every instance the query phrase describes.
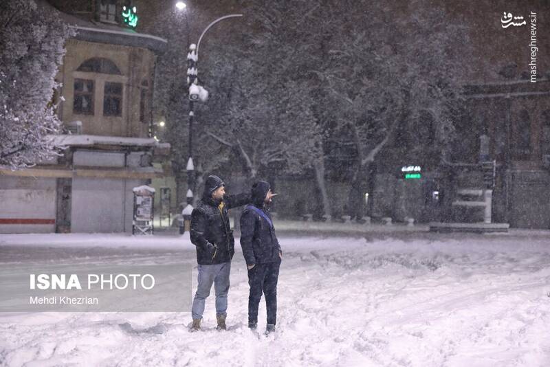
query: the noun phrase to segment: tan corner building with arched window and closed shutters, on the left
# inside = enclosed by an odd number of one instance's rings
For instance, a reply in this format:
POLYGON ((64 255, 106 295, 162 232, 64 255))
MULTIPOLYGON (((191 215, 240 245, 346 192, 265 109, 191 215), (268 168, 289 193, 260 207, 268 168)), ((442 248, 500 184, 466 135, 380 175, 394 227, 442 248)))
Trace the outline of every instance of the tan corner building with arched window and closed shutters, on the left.
POLYGON ((131 232, 132 188, 164 176, 153 159, 169 146, 152 136, 151 101, 166 41, 124 26, 122 3, 39 2, 77 31, 54 96, 65 126, 55 139, 67 149, 34 168, 0 170, 0 232, 131 232))

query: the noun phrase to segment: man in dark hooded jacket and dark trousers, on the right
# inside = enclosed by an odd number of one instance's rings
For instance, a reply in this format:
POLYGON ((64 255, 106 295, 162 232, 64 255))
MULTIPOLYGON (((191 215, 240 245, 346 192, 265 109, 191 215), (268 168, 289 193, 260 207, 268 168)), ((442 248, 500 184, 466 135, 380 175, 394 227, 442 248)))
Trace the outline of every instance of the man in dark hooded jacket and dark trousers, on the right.
POLYGON ((241 247, 248 267, 248 327, 256 329, 262 292, 267 307, 267 333, 275 331, 277 280, 283 252, 275 235, 273 221, 265 208, 275 194, 265 181, 252 186, 252 204, 241 216, 241 247))

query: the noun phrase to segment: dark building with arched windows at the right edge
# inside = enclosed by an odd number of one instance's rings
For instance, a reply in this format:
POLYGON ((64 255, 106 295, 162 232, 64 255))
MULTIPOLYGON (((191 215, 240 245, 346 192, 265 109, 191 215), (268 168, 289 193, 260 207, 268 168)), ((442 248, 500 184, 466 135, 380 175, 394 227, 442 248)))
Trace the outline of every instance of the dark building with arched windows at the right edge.
POLYGON ((526 75, 470 85, 472 129, 461 131, 477 159, 479 136, 489 136, 496 160, 493 212, 513 227, 550 228, 550 80, 526 75))

